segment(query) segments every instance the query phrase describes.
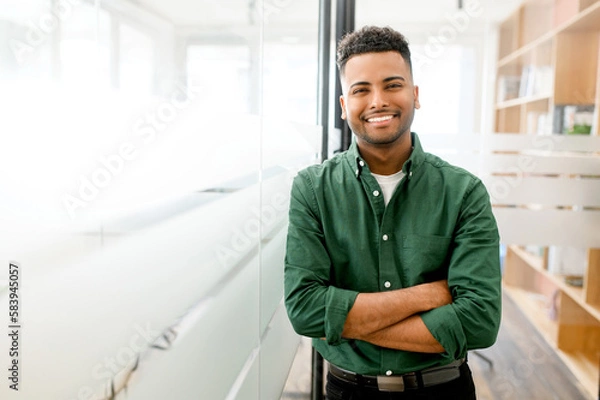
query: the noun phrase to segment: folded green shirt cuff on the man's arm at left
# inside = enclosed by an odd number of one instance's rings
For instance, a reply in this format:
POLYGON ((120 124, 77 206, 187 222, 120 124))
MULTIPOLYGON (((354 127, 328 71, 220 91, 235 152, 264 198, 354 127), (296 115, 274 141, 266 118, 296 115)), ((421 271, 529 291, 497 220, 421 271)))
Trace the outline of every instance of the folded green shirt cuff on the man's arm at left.
POLYGON ((325 338, 327 344, 336 346, 342 343, 342 331, 348 312, 354 305, 358 292, 340 289, 335 286, 327 288, 325 298, 325 338))

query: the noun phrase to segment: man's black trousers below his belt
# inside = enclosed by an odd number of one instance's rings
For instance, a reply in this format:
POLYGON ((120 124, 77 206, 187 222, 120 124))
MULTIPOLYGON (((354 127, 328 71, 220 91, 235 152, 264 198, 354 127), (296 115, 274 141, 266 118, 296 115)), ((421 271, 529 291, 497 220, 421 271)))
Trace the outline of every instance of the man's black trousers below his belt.
POLYGON ((327 400, 475 400, 475 384, 471 370, 465 362, 460 366, 460 377, 453 381, 404 392, 382 392, 360 387, 327 374, 327 400))

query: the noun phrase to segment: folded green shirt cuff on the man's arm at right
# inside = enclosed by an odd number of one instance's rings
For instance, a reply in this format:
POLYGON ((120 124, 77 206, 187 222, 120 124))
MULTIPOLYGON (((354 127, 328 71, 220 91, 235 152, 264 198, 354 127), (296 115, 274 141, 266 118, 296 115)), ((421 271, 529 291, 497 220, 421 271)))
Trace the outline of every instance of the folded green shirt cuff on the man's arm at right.
POLYGON ((421 314, 421 318, 450 357, 457 360, 465 356, 467 337, 452 304, 427 311, 421 314))

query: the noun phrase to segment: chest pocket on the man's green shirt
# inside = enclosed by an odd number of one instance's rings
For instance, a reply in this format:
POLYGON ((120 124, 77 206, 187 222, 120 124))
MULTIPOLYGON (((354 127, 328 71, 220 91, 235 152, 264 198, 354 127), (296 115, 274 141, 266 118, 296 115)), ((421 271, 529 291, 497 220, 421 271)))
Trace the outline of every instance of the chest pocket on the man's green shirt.
POLYGON ((403 235, 400 261, 409 284, 445 279, 451 237, 403 235))

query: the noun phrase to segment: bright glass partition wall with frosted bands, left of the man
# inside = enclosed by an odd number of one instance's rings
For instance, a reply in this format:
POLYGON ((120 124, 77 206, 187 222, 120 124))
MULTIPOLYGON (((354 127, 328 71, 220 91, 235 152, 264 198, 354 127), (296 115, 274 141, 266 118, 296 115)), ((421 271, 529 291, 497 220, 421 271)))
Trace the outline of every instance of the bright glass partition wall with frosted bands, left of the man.
POLYGON ((1 358, 20 393, 0 397, 281 393, 289 187, 320 159, 318 10, 3 0, 0 304, 11 268, 22 302, 1 358))

